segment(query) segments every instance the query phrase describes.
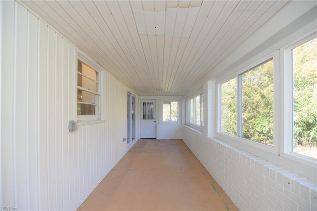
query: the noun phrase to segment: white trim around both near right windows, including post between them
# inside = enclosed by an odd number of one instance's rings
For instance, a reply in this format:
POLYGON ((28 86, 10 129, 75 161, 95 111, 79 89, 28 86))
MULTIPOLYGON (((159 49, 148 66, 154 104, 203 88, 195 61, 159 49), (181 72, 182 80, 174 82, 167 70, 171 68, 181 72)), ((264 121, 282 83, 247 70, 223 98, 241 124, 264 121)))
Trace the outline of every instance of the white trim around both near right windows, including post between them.
MULTIPOLYGON (((292 104, 292 72, 291 70, 291 52, 290 50, 294 47, 298 47, 303 43, 317 37, 316 29, 307 33, 304 36, 301 36, 299 39, 294 39, 295 41, 292 42, 290 45, 286 47, 280 48, 276 52, 272 53, 275 54, 273 57, 274 68, 279 68, 278 71, 274 69, 273 75, 273 83, 277 84, 274 86, 274 147, 266 146, 265 144, 257 143, 255 141, 250 140, 242 140, 240 137, 221 133, 219 124, 221 122, 221 89, 220 86, 222 83, 236 78, 238 74, 251 69, 252 67, 256 66, 257 64, 267 60, 271 55, 263 57, 263 59, 258 60, 257 62, 252 62, 255 59, 252 58, 238 67, 232 69, 231 75, 226 75, 225 78, 221 77, 215 81, 215 123, 216 129, 214 136, 211 138, 216 138, 221 141, 224 141, 232 146, 238 147, 242 150, 250 152, 256 156, 264 158, 268 161, 271 161, 275 164, 283 166, 287 169, 293 170, 303 176, 306 176, 310 179, 316 181, 317 179, 317 160, 315 158, 310 158, 304 155, 300 155, 298 153, 291 152, 292 150, 292 138, 289 139, 289 136, 293 134, 292 128, 292 121, 293 121, 293 109, 288 107, 287 105, 292 104), (288 51, 288 53, 287 53, 288 51), (277 59, 279 60, 278 62, 277 59), (248 65, 250 63, 252 65, 248 65), (276 67, 277 65, 277 67, 276 67), (246 68, 241 68, 245 67, 246 68), (288 70, 288 71, 287 71, 288 70), (291 79, 291 80, 290 80, 291 79), (288 92, 285 92, 289 90, 288 92), (285 108, 285 109, 284 109, 285 108), (278 134, 276 133, 278 132, 278 134), (276 141, 277 140, 277 141, 276 141), (284 140, 291 140, 289 142, 284 140), (269 149, 271 148, 271 149, 269 149), (273 150, 272 150, 273 149, 273 150)), ((208 119, 211 120, 210 118, 208 119)))

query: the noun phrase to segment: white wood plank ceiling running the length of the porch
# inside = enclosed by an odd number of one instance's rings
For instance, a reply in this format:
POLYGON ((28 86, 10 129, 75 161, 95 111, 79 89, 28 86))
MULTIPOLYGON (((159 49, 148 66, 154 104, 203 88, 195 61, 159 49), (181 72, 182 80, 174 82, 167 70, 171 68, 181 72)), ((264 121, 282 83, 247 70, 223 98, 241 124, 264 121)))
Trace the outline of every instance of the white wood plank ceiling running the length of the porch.
POLYGON ((158 96, 184 95, 288 2, 21 1, 137 95, 158 96))

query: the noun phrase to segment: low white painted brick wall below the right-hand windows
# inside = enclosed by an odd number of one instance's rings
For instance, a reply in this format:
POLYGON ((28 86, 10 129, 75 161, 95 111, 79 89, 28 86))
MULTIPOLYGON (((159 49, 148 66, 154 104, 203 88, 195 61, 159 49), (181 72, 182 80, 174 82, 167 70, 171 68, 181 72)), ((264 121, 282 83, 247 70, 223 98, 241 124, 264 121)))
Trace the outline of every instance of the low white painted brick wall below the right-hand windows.
POLYGON ((317 211, 317 183, 183 125, 182 138, 240 210, 317 211))

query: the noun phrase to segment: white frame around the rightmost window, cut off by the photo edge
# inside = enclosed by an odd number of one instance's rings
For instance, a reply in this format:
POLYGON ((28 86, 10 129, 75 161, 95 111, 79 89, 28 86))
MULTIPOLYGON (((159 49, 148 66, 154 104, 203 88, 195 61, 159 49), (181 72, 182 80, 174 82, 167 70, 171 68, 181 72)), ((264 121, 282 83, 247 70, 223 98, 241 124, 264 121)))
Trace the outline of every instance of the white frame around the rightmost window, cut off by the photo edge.
POLYGON ((317 32, 314 32, 310 35, 304 36, 304 38, 297 39, 290 45, 281 48, 280 57, 281 57, 281 90, 283 92, 281 95, 282 103, 285 109, 282 113, 281 128, 281 152, 280 155, 285 158, 289 158, 294 161, 300 161, 303 164, 306 164, 311 167, 317 167, 317 159, 307 157, 293 151, 293 106, 284 106, 284 105, 293 105, 293 69, 292 69, 292 49, 314 39, 317 37, 317 32))

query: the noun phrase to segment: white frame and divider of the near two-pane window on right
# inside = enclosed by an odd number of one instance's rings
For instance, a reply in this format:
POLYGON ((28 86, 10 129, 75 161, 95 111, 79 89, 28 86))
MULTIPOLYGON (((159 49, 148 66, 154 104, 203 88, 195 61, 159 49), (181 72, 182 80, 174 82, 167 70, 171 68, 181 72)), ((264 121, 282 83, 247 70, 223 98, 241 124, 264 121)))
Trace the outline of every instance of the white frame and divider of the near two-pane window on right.
MULTIPOLYGON (((215 138, 219 138, 220 140, 225 140, 230 144, 235 145, 238 142, 244 146, 251 146, 253 148, 259 149, 261 151, 270 152, 273 154, 278 154, 279 150, 279 142, 275 141, 279 139, 279 119, 277 118, 277 114, 279 111, 279 52, 275 51, 273 53, 270 53, 266 56, 264 56, 262 59, 257 60, 256 62, 251 63, 250 65, 246 65, 244 68, 236 67, 233 72, 234 74, 231 74, 229 77, 226 77, 225 79, 219 80, 216 82, 216 93, 217 93, 217 103, 216 103, 216 132, 215 132, 215 138), (240 115, 240 107, 242 106, 242 96, 241 93, 241 86, 240 86, 240 75, 248 72, 249 70, 263 64, 264 62, 268 61, 269 59, 273 59, 273 146, 266 145, 264 143, 260 143, 257 141, 249 140, 243 137, 239 136, 239 132, 242 130, 241 128, 241 121, 242 114, 240 115), (236 78, 237 83, 237 134, 228 134, 221 132, 221 85, 227 81, 230 81, 231 79, 236 78)), ((248 147, 247 147, 248 148, 248 147)))

